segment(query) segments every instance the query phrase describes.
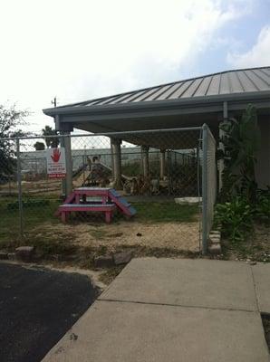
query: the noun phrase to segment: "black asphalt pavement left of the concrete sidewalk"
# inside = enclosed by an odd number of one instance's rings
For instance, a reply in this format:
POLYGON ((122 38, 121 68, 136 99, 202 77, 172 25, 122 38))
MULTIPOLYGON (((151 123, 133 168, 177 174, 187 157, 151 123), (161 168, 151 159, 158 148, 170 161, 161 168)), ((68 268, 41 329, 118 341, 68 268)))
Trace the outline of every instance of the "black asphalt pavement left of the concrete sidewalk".
POLYGON ((0 361, 41 361, 98 294, 85 275, 0 262, 0 361))

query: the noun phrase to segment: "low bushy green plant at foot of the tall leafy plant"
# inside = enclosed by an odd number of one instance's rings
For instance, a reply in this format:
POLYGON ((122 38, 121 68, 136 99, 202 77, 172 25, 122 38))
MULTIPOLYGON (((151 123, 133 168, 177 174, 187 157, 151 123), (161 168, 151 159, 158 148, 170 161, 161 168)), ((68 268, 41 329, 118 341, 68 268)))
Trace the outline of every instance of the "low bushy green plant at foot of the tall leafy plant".
POLYGON ((221 226, 223 235, 232 242, 243 241, 253 227, 253 214, 246 198, 236 196, 231 202, 217 204, 214 224, 221 226))

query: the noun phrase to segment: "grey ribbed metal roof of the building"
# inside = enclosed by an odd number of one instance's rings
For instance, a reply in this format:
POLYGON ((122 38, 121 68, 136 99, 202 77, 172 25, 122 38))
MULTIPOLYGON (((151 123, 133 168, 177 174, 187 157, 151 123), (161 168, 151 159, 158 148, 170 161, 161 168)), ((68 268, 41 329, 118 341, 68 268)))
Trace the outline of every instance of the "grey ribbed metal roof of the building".
MULTIPOLYGON (((221 71, 201 77, 191 78, 185 81, 175 81, 168 84, 132 90, 129 92, 103 97, 96 100, 86 100, 56 107, 52 112, 44 110, 46 114, 57 113, 64 108, 84 108, 89 110, 96 106, 117 106, 132 103, 140 104, 148 101, 164 100, 196 100, 198 97, 225 96, 247 94, 249 92, 259 93, 270 91, 270 66, 241 69, 233 71, 221 71)), ((213 98, 213 97, 210 97, 213 98)))

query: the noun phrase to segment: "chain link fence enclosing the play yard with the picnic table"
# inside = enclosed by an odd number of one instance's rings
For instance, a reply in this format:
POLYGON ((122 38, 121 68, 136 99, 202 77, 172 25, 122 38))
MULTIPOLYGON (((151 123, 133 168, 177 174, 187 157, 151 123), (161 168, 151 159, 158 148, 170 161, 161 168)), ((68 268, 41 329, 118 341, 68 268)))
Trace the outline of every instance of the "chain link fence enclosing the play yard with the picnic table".
POLYGON ((0 139, 1 240, 199 252, 213 219, 215 149, 201 128, 0 139), (48 174, 61 153, 66 175, 48 174))

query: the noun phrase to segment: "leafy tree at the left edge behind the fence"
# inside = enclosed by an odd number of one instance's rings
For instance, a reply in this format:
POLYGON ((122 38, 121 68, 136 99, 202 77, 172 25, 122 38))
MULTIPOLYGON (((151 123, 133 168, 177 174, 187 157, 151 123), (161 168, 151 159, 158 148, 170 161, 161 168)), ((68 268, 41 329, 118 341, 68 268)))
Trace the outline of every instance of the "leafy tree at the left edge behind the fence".
POLYGON ((25 124, 24 118, 28 114, 26 110, 17 110, 15 104, 0 105, 0 181, 14 173, 16 145, 8 138, 26 135, 19 127, 25 124))

